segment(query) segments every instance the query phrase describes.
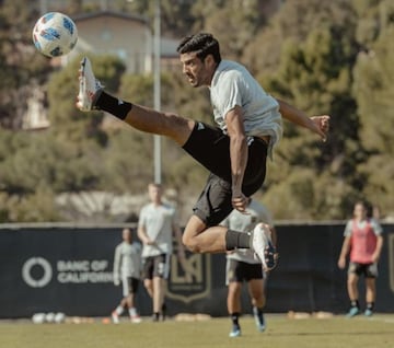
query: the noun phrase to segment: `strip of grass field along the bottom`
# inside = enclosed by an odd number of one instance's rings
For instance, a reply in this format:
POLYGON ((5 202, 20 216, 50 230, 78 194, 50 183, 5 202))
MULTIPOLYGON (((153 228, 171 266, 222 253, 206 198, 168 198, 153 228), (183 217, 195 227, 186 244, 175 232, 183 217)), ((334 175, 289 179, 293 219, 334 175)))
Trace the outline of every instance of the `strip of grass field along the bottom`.
POLYGON ((375 314, 352 320, 290 320, 266 315, 267 329, 258 333, 252 317, 242 317, 242 337, 229 338, 230 321, 141 324, 33 324, 28 321, 0 322, 0 347, 4 348, 393 348, 394 314, 375 314))

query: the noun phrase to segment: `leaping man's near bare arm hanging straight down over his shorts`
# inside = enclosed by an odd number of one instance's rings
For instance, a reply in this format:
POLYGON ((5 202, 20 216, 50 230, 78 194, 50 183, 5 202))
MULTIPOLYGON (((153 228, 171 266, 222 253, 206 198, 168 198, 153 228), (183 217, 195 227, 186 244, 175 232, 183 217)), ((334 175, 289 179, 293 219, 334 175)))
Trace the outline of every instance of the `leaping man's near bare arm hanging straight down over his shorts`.
POLYGON ((244 212, 247 206, 247 199, 242 193, 242 182, 247 163, 247 144, 241 107, 235 106, 229 111, 224 119, 230 137, 232 205, 234 209, 244 212))

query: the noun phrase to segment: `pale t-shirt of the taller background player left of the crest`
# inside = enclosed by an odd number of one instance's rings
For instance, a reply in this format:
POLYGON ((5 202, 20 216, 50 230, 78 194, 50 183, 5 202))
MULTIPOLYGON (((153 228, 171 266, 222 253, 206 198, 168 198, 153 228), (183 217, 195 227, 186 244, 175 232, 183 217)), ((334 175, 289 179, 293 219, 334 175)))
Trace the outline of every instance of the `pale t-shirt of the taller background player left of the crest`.
POLYGON ((170 205, 149 204, 141 209, 138 225, 143 227, 147 235, 155 241, 153 245, 143 245, 142 257, 172 254, 175 223, 175 209, 170 205))

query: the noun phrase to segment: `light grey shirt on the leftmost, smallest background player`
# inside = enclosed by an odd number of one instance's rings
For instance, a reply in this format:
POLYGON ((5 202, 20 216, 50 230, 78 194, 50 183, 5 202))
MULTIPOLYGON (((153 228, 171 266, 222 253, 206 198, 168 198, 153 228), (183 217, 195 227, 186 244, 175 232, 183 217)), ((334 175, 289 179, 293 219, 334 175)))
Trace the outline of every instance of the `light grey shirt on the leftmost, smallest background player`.
POLYGON ((115 248, 114 278, 140 278, 141 274, 141 245, 121 242, 115 248))

